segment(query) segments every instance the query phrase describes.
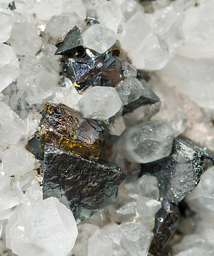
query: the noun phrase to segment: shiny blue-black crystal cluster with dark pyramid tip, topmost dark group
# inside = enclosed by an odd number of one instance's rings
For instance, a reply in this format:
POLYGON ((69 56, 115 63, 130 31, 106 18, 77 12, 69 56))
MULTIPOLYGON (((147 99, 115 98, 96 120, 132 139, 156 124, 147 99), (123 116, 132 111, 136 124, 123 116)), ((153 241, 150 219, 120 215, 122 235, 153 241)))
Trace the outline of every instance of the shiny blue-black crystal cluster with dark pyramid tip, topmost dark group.
POLYGON ((55 54, 63 56, 67 76, 78 92, 92 86, 114 87, 123 79, 121 64, 112 51, 99 54, 84 48, 77 27, 69 31, 55 54))

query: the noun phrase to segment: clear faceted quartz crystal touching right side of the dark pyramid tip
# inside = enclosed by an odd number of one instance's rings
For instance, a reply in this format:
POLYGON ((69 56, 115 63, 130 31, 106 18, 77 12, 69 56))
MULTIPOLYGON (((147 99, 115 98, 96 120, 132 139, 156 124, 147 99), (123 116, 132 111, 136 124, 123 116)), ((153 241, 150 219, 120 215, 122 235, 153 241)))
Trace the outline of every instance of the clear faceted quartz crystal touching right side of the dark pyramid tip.
POLYGON ((94 24, 83 31, 82 40, 86 48, 104 53, 115 44, 116 36, 112 29, 94 24))

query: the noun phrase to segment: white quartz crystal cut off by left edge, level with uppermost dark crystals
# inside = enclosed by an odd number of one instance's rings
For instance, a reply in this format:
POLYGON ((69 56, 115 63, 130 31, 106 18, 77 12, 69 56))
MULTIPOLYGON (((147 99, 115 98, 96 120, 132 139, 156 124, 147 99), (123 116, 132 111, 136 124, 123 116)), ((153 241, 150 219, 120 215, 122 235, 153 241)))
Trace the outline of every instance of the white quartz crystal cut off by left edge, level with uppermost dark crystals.
POLYGON ((0 91, 20 74, 19 62, 12 47, 0 44, 0 91))

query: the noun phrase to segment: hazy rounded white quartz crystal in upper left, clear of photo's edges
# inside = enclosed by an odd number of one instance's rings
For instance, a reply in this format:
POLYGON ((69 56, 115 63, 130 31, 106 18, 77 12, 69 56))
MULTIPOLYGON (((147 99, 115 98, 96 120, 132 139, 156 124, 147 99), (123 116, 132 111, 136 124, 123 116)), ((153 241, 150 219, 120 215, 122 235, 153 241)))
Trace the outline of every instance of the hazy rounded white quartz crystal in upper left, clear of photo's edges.
POLYGON ((42 46, 36 25, 30 22, 16 22, 8 41, 19 55, 34 55, 42 46))

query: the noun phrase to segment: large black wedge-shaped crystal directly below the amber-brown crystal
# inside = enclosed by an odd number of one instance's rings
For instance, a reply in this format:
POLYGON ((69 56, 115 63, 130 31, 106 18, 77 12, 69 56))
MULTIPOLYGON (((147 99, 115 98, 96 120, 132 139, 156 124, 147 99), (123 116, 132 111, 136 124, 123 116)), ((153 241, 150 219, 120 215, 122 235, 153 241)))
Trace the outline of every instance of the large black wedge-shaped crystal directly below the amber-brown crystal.
POLYGON ((43 198, 57 197, 79 222, 113 203, 125 173, 103 164, 45 145, 43 198))

